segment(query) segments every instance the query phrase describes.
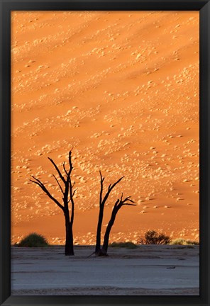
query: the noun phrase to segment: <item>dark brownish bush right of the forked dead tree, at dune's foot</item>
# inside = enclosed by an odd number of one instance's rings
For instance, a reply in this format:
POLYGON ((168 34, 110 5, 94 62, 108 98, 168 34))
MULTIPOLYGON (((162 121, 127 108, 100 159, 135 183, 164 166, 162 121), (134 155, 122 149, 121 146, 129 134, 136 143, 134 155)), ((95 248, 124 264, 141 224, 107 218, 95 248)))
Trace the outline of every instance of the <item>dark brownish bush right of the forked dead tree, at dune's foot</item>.
POLYGON ((154 230, 145 233, 145 237, 140 238, 140 244, 170 244, 170 237, 165 234, 158 234, 154 230))

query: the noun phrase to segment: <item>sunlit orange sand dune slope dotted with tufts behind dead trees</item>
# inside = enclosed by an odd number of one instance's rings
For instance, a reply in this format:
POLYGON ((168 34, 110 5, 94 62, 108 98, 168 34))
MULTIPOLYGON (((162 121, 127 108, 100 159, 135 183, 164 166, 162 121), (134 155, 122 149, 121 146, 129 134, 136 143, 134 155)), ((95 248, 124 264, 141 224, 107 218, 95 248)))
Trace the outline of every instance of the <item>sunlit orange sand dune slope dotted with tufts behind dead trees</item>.
MULTIPOLYGON (((95 242, 99 170, 104 190, 124 176, 106 203, 102 234, 122 192, 136 202, 118 212, 110 242, 138 242, 148 229, 199 241, 199 12, 11 13, 12 243, 38 232, 50 244, 64 244, 62 211, 29 180, 37 177, 61 200, 48 157, 62 170, 70 149, 77 188, 74 244, 95 242)), ((15 249, 15 262, 36 251, 27 252, 15 249)), ((71 268, 73 260, 76 277, 79 258, 60 262, 71 268)), ((162 264, 182 263, 177 260, 162 264)), ((104 267, 118 262, 103 261, 104 267)), ((166 278, 182 269, 165 266, 166 278)), ((19 285, 13 289, 23 289, 19 285)))

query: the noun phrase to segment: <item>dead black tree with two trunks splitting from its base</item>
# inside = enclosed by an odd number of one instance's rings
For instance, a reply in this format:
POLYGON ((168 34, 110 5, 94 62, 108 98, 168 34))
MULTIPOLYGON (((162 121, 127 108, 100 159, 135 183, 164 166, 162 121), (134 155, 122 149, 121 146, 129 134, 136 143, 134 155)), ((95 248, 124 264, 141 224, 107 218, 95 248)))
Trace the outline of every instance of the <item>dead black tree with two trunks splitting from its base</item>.
POLYGON ((100 190, 100 196, 99 196, 99 220, 98 220, 98 225, 97 225, 97 232, 96 232, 96 248, 95 248, 95 254, 96 256, 106 256, 107 255, 107 249, 109 245, 109 234, 111 232, 111 227, 114 225, 114 221, 116 218, 116 214, 118 210, 121 209, 123 205, 131 205, 131 206, 136 206, 133 200, 131 200, 131 196, 128 196, 127 198, 123 199, 123 193, 120 199, 118 199, 114 205, 114 208, 111 213, 111 218, 109 220, 109 223, 106 227, 106 232, 104 234, 104 243, 101 248, 101 225, 103 222, 103 217, 104 217, 104 205, 106 203, 106 200, 109 198, 109 195, 112 191, 112 189, 123 179, 124 176, 122 176, 118 181, 116 181, 113 185, 109 185, 108 190, 106 191, 106 194, 103 198, 103 191, 104 191, 104 177, 101 174, 101 171, 99 171, 100 177, 101 177, 101 190, 100 190))

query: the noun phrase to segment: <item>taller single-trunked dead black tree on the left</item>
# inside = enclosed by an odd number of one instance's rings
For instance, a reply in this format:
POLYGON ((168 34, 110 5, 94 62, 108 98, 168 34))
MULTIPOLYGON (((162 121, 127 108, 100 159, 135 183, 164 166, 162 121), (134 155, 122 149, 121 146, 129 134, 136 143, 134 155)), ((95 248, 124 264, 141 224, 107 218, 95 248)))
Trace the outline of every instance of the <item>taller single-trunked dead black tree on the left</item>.
POLYGON ((74 183, 72 183, 71 174, 72 174, 72 150, 69 152, 69 170, 65 167, 65 162, 62 164, 63 169, 65 171, 65 176, 62 175, 60 170, 58 169, 55 162, 53 162, 50 157, 48 157, 50 162, 55 166, 55 169, 57 171, 58 176, 60 177, 63 187, 61 186, 58 179, 53 174, 53 177, 55 181, 57 182, 57 185, 60 188, 60 191, 62 193, 62 204, 52 196, 50 191, 45 187, 44 183, 42 183, 39 179, 35 178, 35 176, 31 176, 33 180, 30 181, 37 184, 45 193, 46 195, 53 200, 57 206, 62 209, 64 216, 65 216, 65 255, 74 255, 74 244, 73 244, 73 222, 74 222, 74 193, 76 189, 73 191, 74 183), (69 210, 69 203, 71 203, 71 217, 70 217, 70 210, 69 210))

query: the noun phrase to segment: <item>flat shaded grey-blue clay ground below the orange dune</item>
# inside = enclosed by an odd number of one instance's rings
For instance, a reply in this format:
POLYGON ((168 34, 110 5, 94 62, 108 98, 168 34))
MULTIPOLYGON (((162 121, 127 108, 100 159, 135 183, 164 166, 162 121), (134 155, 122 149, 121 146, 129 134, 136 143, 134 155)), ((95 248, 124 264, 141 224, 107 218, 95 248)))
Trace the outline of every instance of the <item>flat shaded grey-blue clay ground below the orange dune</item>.
POLYGON ((199 246, 11 250, 11 295, 199 295, 199 246))

